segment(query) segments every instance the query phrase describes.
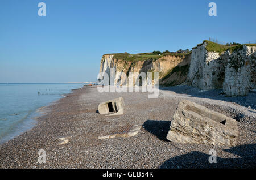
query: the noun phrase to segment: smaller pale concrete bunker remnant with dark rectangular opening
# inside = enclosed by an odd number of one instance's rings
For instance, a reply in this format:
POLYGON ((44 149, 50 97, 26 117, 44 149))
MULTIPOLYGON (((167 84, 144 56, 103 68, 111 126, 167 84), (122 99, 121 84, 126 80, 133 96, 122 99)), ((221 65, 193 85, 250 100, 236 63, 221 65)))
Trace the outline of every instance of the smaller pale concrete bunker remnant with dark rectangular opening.
POLYGON ((110 115, 121 115, 123 114, 123 108, 124 108, 124 102, 123 98, 115 98, 113 100, 101 102, 100 105, 98 105, 98 112, 100 114, 109 114, 110 115))

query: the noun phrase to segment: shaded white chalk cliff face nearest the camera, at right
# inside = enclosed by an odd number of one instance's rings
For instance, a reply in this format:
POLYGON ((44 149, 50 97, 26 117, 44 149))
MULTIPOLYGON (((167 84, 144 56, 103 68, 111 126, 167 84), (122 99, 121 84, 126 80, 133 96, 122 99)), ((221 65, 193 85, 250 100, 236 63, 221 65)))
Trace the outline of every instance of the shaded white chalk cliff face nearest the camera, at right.
POLYGON ((229 96, 247 95, 255 88, 256 46, 241 45, 224 52, 208 52, 207 42, 192 49, 187 84, 200 89, 223 89, 229 96))

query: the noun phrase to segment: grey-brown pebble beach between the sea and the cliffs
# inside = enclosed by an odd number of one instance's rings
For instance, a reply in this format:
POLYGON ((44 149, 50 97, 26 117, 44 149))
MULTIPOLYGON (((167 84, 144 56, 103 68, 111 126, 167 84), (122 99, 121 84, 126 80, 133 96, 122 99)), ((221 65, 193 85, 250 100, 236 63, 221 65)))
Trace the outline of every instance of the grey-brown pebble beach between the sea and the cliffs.
POLYGON ((159 87, 159 97, 150 99, 145 92, 100 93, 96 86, 86 86, 40 109, 43 115, 34 128, 1 144, 0 168, 254 168, 255 102, 254 91, 246 97, 225 97, 220 90, 159 87), (98 104, 118 97, 125 102, 123 115, 98 113, 98 104), (184 98, 236 119, 236 145, 168 141, 172 117, 184 98), (142 127, 130 138, 98 139, 126 125, 142 127), (46 152, 41 164, 40 149, 46 152), (210 149, 217 152, 217 163, 209 163, 210 149))

